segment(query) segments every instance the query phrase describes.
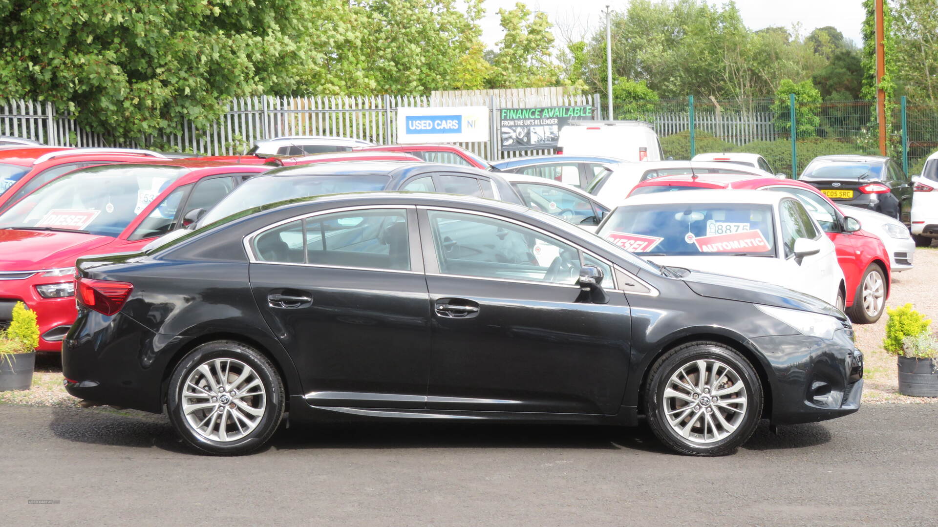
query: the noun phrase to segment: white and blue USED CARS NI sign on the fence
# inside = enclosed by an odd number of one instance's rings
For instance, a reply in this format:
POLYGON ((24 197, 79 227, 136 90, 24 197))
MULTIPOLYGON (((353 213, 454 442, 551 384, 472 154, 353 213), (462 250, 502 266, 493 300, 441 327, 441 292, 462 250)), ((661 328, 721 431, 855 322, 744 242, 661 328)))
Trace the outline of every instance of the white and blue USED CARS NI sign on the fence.
POLYGON ((398 143, 489 141, 489 132, 485 106, 398 109, 398 143))

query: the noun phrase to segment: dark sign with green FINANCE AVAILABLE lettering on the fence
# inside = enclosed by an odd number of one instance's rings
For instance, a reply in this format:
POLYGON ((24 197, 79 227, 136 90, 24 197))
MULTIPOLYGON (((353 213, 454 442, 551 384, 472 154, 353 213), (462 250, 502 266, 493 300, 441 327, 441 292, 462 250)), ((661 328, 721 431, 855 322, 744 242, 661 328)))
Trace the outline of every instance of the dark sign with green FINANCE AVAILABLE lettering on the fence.
POLYGON ((553 148, 560 128, 571 120, 593 119, 592 106, 542 106, 539 108, 503 108, 498 114, 502 150, 553 148))

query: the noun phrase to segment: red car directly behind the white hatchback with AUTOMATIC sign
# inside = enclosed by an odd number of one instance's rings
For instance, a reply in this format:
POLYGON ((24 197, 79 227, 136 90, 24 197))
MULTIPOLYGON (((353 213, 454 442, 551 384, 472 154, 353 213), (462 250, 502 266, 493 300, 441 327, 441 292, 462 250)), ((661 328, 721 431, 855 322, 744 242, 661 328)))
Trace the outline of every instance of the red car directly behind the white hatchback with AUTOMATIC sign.
POLYGON ((883 241, 862 229, 852 229, 840 207, 820 190, 794 179, 734 175, 668 175, 632 188, 629 196, 683 188, 771 189, 793 194, 808 209, 837 248, 837 259, 847 282, 845 311, 857 324, 879 320, 889 297, 889 253, 883 241), (859 299, 860 301, 857 301, 859 299))

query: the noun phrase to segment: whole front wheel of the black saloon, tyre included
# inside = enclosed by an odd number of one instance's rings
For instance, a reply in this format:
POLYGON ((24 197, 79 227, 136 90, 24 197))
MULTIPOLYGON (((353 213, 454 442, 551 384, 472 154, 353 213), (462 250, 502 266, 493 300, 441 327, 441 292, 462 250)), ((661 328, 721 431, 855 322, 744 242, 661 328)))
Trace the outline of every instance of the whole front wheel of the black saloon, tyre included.
POLYGON ((661 443, 691 456, 733 453, 762 416, 755 369, 717 342, 690 342, 662 355, 643 395, 648 424, 661 443))

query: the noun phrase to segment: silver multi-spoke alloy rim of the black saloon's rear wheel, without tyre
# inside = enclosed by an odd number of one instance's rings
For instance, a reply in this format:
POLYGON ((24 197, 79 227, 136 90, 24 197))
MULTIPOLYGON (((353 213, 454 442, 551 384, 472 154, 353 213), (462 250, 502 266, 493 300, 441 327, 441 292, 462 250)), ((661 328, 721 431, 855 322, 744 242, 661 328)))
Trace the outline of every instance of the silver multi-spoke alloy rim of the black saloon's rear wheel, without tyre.
POLYGON ((193 369, 180 399, 189 429, 219 442, 250 434, 261 423, 267 405, 257 372, 231 358, 211 359, 193 369))

